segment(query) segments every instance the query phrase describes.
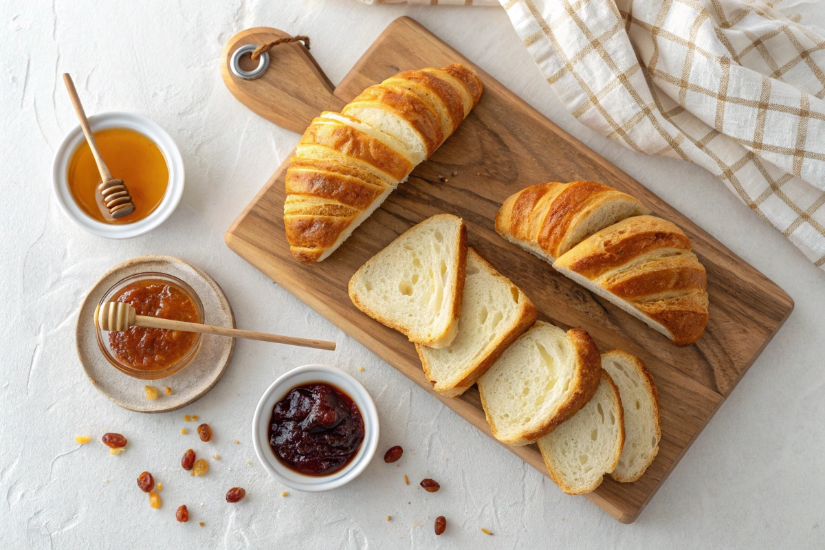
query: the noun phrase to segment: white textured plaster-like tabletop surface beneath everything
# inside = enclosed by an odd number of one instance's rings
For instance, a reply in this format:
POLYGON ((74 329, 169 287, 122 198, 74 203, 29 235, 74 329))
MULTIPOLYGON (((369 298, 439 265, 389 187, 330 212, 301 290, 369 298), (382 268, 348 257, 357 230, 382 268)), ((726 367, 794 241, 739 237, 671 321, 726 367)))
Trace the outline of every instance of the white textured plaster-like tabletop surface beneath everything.
MULTIPOLYGON (((825 23, 821 9, 799 9, 803 21, 825 23)), ((0 0, 0 22, 4 548, 825 545, 825 273, 700 167, 629 153, 579 125, 552 95, 502 11, 344 0, 0 0), (226 228, 299 138, 253 115, 224 88, 217 64, 224 42, 257 25, 310 35, 318 63, 339 82, 402 14, 681 209, 796 300, 775 341, 635 524, 618 524, 583 497, 563 495, 224 246, 226 228), (64 71, 72 73, 89 112, 148 115, 181 147, 186 191, 172 218, 153 233, 106 241, 59 212, 50 192, 51 155, 76 124, 59 80, 64 71), (83 294, 109 267, 148 253, 181 256, 208 271, 228 294, 238 327, 335 340, 338 351, 238 341, 229 372, 194 405, 157 416, 116 407, 82 374, 74 354, 75 315, 83 294), (283 487, 252 452, 252 412, 278 374, 323 361, 347 369, 375 397, 382 419, 379 454, 394 444, 405 454, 400 468, 379 458, 347 487, 320 495, 290 491, 284 498, 283 487), (180 435, 185 413, 214 427, 211 444, 180 435), (98 443, 106 430, 130 439, 124 454, 110 456, 98 443), (73 437, 81 434, 94 443, 78 448, 73 437), (177 464, 189 446, 222 458, 210 460, 205 477, 184 475, 177 464), (149 509, 135 487, 144 469, 163 482, 161 510, 149 509), (441 482, 441 491, 417 488, 422 477, 441 482), (224 493, 234 485, 245 487, 247 498, 228 505, 224 493), (181 503, 191 510, 188 524, 174 519, 181 503), (393 517, 389 523, 386 515, 393 517), (448 519, 439 538, 432 533, 437 515, 448 519)))

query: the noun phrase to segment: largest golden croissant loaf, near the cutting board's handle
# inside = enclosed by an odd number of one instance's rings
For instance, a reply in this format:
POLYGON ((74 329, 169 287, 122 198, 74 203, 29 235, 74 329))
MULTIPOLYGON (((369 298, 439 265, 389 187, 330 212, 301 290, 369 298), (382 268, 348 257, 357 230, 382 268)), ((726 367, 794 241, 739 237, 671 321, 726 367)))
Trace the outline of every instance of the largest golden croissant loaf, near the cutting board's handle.
POLYGON ((405 71, 367 88, 342 113, 312 121, 286 171, 290 251, 323 261, 406 181, 479 101, 469 68, 405 71))

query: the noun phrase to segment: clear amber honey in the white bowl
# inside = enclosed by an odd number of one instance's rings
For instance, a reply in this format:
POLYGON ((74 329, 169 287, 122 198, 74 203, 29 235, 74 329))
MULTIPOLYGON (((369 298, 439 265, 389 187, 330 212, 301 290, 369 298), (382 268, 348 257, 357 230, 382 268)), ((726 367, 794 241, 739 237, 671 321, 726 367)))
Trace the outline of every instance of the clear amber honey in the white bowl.
POLYGON ((73 153, 66 174, 74 202, 83 213, 104 223, 134 223, 152 214, 169 184, 169 168, 160 148, 144 134, 128 128, 101 129, 94 135, 112 177, 123 180, 132 195, 134 212, 112 219, 103 206, 97 191, 101 176, 85 141, 73 153))

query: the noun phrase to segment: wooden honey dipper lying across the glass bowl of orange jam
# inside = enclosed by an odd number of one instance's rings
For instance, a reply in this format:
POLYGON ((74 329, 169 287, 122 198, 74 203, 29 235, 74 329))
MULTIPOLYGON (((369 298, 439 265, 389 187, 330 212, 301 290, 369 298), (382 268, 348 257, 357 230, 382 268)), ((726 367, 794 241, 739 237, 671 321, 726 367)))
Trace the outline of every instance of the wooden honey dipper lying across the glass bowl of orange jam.
POLYGON ((306 338, 295 338, 293 336, 279 336, 277 334, 267 334, 266 332, 242 331, 237 328, 213 327, 212 325, 201 325, 198 322, 172 321, 160 317, 145 317, 138 315, 130 303, 106 302, 102 306, 97 306, 95 310, 95 326, 101 331, 126 331, 129 327, 165 328, 169 331, 200 332, 202 334, 217 334, 219 336, 230 336, 233 338, 246 338, 247 340, 260 340, 265 342, 275 342, 276 344, 287 344, 289 346, 303 346, 316 348, 318 350, 335 350, 335 342, 324 340, 307 340, 306 338))

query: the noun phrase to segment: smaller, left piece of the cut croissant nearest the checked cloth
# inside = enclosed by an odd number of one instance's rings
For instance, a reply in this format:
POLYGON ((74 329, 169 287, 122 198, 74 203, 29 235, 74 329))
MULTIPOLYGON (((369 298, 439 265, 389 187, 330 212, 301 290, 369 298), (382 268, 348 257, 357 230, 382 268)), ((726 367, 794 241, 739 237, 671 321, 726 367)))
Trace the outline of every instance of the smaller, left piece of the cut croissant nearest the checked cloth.
POLYGON ((639 200, 596 181, 542 183, 507 197, 496 231, 552 263, 593 233, 649 213, 639 200))

